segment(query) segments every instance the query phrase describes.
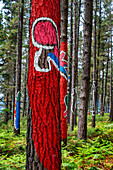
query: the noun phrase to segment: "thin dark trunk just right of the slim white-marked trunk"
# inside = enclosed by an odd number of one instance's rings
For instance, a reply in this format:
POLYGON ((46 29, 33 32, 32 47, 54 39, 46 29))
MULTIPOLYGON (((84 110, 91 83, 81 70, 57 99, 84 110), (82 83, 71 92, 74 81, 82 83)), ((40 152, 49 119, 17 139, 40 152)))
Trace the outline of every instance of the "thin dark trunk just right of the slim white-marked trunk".
POLYGON ((99 81, 100 34, 101 34, 101 0, 100 0, 100 9, 99 9, 98 49, 97 49, 98 58, 97 58, 97 71, 96 71, 96 114, 98 114, 98 104, 99 104, 98 81, 99 81))

